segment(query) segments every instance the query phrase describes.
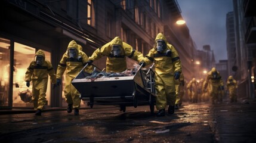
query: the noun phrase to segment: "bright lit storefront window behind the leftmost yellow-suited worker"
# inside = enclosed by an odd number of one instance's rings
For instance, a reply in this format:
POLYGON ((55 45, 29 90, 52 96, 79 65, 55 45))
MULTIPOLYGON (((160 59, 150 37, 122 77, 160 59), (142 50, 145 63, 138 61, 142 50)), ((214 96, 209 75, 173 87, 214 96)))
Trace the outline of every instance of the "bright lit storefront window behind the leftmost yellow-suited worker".
MULTIPOLYGON (((45 52, 45 59, 51 60, 50 52, 45 52)), ((33 107, 32 84, 26 86, 25 73, 31 61, 34 60, 36 49, 14 42, 14 72, 13 72, 13 107, 33 107)), ((49 77, 50 78, 50 77, 49 77)), ((50 79, 47 85, 47 101, 50 104, 50 79)))

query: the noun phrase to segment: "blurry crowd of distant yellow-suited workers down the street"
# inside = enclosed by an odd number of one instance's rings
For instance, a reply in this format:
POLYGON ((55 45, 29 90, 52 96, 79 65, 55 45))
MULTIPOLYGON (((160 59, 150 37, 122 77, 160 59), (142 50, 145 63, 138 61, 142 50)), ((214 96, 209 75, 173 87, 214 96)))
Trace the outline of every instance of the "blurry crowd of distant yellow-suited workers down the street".
POLYGON ((195 78, 187 84, 187 95, 190 102, 211 101, 212 104, 222 102, 225 95, 225 90, 229 93, 230 102, 237 102, 236 89, 238 82, 229 76, 224 88, 224 82, 220 72, 215 67, 206 74, 205 79, 196 81, 195 78))

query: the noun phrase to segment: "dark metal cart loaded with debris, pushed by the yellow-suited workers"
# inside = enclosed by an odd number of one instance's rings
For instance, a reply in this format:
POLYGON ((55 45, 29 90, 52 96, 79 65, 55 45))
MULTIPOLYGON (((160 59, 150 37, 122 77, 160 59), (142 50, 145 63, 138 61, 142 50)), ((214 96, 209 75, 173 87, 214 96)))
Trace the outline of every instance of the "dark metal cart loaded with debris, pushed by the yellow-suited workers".
MULTIPOLYGON (((150 111, 153 113, 156 95, 152 67, 153 65, 149 70, 142 70, 140 66, 134 76, 104 77, 94 80, 85 78, 92 74, 82 69, 72 80, 72 85, 80 92, 81 99, 88 101, 91 108, 94 104, 120 105, 120 110, 125 111, 127 106, 133 105, 136 108, 138 105, 150 105, 150 111)), ((97 70, 96 66, 94 66, 95 70, 97 70)))

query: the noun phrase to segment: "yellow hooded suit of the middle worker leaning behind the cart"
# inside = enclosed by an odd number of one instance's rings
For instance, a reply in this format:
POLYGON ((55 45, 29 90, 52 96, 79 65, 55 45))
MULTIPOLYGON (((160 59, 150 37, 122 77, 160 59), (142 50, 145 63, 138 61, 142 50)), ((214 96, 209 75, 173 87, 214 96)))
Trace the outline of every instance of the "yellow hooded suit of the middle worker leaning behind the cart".
POLYGON ((115 37, 112 41, 106 43, 100 48, 96 49, 89 60, 95 61, 100 59, 103 56, 107 56, 106 61, 106 71, 107 72, 122 72, 127 70, 127 61, 126 57, 131 58, 135 61, 140 62, 143 60, 143 54, 141 52, 132 49, 132 46, 128 43, 122 42, 122 39, 115 37), (110 55, 112 45, 121 45, 122 54, 119 57, 112 57, 110 55))

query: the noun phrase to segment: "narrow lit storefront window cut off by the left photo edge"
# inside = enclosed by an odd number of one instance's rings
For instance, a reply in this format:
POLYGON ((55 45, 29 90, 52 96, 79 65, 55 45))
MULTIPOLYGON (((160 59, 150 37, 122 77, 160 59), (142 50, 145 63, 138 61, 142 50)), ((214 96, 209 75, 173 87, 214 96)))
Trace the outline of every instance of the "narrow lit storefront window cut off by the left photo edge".
POLYGON ((10 40, 0 38, 0 106, 8 106, 10 87, 10 40))

